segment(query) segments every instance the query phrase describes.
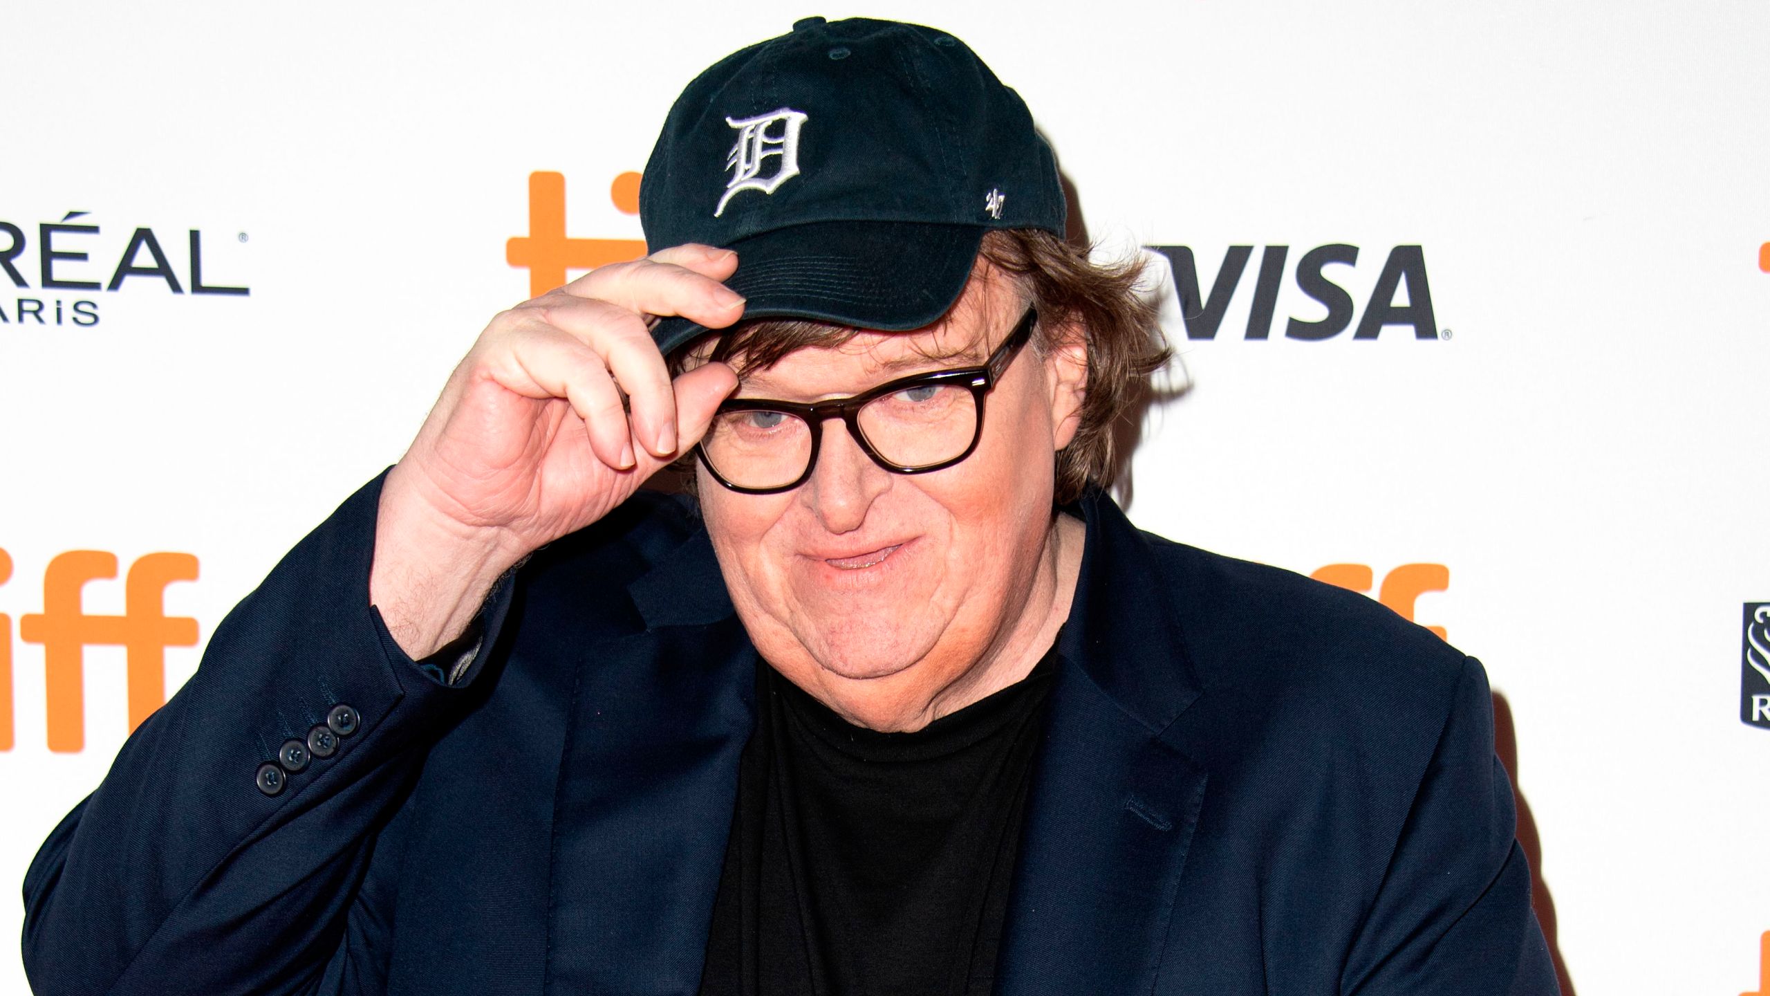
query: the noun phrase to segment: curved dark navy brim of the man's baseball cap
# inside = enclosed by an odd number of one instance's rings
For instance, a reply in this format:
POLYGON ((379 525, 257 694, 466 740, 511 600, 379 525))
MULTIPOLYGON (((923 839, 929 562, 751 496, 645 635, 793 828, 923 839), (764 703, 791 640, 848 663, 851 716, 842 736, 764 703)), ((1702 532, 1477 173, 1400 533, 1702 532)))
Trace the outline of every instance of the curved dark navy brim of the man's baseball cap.
MULTIPOLYGON (((984 229, 922 222, 816 222, 775 229, 726 248, 738 271, 743 317, 796 317, 880 331, 935 323, 965 292, 984 229)), ((666 317, 651 328, 660 353, 706 326, 666 317)))

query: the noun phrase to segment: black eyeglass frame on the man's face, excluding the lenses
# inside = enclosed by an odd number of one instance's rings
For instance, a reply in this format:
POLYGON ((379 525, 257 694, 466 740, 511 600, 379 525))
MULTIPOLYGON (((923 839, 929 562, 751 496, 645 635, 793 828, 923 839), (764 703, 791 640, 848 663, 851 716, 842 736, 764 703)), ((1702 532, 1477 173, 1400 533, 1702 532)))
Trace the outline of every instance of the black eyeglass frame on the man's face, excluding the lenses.
POLYGON ((860 447, 860 452, 867 454, 867 457, 871 457, 873 463, 880 464, 881 468, 892 473, 931 473, 936 470, 945 470, 956 463, 963 463, 965 457, 977 452, 977 443, 984 436, 984 395, 988 395, 989 390, 995 388, 997 381, 1002 379, 1009 365, 1014 362, 1014 356, 1020 354, 1020 349, 1032 340, 1032 330, 1037 324, 1037 321, 1039 321, 1039 308, 1028 307, 1027 314, 1023 314, 1020 321, 1014 324, 1014 328, 1007 333, 1007 338, 1004 338, 1002 344, 995 347, 995 353, 991 353, 989 358, 984 360, 981 367, 959 367, 954 370, 927 370, 926 374, 910 374, 908 377, 885 381, 883 385, 864 390, 857 395, 832 397, 828 401, 820 401, 816 404, 770 401, 761 397, 735 397, 719 402, 719 409, 713 413, 713 418, 719 418, 720 415, 731 411, 781 411, 784 415, 798 416, 800 420, 805 422, 805 425, 811 427, 811 454, 805 455, 805 470, 791 484, 779 484, 775 487, 743 487, 726 480, 726 477, 719 473, 719 468, 713 466, 712 457, 706 455, 706 447, 703 443, 696 443, 694 452, 696 455, 701 457, 701 466, 704 466, 706 471, 713 475, 713 480, 726 486, 727 489, 736 491, 738 494, 779 494, 782 491, 791 491, 811 479, 811 471, 818 466, 818 448, 823 443, 821 427, 830 418, 841 418, 843 424, 848 425, 848 436, 855 440, 855 443, 860 447), (867 441, 867 434, 860 431, 860 409, 866 408, 867 402, 901 390, 929 386, 929 385, 950 385, 954 381, 970 388, 972 401, 974 404, 977 404, 977 424, 972 427, 972 441, 970 445, 965 447, 965 452, 961 452, 959 455, 949 461, 940 461, 924 466, 897 464, 885 459, 876 448, 873 448, 873 443, 867 441))

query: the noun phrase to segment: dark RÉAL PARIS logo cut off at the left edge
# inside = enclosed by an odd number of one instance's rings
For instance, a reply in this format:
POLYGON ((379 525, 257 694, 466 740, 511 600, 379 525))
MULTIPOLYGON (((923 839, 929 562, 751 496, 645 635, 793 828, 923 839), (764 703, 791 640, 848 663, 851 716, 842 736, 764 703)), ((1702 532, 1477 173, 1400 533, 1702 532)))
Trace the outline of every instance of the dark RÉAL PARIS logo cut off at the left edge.
POLYGON ((251 294, 204 271, 198 229, 165 237, 135 229, 127 239, 120 230, 99 225, 90 211, 35 225, 0 222, 0 287, 11 282, 23 292, 0 298, 0 324, 96 326, 104 294, 251 294))

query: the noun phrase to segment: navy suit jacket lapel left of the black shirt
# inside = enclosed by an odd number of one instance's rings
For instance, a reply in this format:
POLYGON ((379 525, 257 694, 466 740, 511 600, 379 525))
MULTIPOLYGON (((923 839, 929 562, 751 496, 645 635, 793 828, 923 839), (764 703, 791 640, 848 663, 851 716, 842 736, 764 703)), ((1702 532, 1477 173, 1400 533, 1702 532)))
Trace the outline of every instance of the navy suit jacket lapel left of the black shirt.
POLYGON ((554 799, 549 994, 683 994, 756 727, 756 650, 706 533, 635 581, 646 629, 584 650, 554 799))

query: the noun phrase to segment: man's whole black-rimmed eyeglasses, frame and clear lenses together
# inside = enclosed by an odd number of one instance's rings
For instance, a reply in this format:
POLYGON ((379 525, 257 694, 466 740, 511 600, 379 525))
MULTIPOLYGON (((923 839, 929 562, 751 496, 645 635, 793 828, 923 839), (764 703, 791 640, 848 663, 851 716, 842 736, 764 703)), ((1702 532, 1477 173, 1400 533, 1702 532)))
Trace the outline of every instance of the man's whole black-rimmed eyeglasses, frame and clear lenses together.
POLYGON ((818 466, 821 425, 841 418, 873 463, 892 473, 949 468, 977 448, 984 395, 1007 372, 1039 321, 1027 308, 982 367, 931 370, 818 404, 736 397, 720 402, 696 447, 715 480, 743 494, 791 491, 818 466))

